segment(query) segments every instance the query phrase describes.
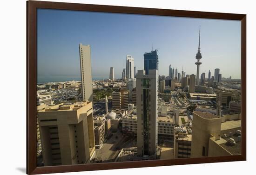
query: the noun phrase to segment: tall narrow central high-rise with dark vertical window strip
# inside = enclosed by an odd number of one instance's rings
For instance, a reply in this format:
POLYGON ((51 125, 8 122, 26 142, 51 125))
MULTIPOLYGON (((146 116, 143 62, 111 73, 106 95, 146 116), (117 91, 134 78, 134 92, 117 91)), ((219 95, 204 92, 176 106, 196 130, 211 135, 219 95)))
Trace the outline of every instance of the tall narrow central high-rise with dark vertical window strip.
POLYGON ((137 149, 138 156, 155 156, 157 147, 158 71, 139 70, 137 91, 137 149))

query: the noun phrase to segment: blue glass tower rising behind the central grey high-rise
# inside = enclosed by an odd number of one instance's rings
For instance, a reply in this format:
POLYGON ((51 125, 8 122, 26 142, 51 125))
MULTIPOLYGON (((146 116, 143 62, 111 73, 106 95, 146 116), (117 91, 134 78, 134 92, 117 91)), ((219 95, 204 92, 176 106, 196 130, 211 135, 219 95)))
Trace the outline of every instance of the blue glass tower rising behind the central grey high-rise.
POLYGON ((151 69, 158 70, 158 55, 156 50, 144 54, 144 70, 146 71, 146 75, 148 75, 148 71, 151 69))

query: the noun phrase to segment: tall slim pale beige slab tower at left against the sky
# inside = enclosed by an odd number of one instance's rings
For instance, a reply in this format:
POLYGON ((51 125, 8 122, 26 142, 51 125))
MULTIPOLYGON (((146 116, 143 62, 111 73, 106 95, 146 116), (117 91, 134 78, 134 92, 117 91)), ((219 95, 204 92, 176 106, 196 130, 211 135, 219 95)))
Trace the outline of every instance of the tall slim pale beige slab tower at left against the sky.
POLYGON ((93 83, 90 45, 79 44, 83 100, 93 101, 93 83))

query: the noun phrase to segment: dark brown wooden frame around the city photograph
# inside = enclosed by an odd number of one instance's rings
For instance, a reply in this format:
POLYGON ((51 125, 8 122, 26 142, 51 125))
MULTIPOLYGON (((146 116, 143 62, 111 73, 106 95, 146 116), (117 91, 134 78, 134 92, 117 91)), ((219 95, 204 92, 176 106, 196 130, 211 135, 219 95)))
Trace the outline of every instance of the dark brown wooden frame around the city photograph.
POLYGON ((246 15, 217 12, 195 12, 182 10, 139 8, 126 6, 103 6, 91 4, 27 1, 27 174, 92 171, 103 169, 126 169, 138 167, 183 165, 194 163, 228 162, 246 160, 246 15), (241 82, 242 82, 242 143, 241 155, 187 158, 172 160, 148 160, 133 162, 111 162, 79 165, 37 167, 36 165, 36 84, 37 84, 37 9, 60 9, 90 12, 114 12, 128 14, 160 15, 204 19, 229 19, 241 21, 241 82))

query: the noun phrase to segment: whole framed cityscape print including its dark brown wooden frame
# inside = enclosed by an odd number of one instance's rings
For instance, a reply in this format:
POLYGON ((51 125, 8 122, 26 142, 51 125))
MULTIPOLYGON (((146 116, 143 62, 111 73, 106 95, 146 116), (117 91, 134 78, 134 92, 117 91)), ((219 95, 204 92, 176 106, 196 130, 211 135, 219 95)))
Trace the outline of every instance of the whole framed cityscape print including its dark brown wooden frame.
POLYGON ((27 174, 246 160, 246 15, 27 1, 27 174))

